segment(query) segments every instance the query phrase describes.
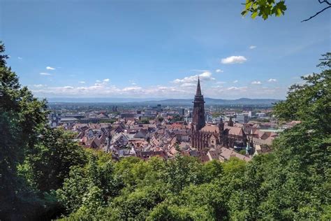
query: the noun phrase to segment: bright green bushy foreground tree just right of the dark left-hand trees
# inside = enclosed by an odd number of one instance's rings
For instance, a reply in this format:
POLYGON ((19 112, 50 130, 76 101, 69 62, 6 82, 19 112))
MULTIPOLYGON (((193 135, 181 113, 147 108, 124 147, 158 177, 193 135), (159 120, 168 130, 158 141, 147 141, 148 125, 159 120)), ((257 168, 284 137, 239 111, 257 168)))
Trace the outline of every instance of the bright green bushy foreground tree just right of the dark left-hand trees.
POLYGON ((57 196, 68 214, 75 217, 96 215, 122 189, 115 175, 112 158, 103 152, 90 152, 89 163, 73 166, 57 196))

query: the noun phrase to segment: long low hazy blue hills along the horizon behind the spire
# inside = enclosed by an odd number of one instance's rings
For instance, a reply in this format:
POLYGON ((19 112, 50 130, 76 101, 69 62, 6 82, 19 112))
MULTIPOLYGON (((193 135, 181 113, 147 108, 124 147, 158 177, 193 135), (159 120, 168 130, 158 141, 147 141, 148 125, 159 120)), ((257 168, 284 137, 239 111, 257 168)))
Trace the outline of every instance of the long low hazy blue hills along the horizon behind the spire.
MULTIPOLYGON (((134 99, 134 98, 49 98, 50 103, 111 103, 111 104, 142 104, 142 105, 156 105, 162 106, 191 106, 193 99, 134 99)), ((206 105, 258 105, 258 106, 272 106, 279 99, 213 99, 205 98, 206 105)))

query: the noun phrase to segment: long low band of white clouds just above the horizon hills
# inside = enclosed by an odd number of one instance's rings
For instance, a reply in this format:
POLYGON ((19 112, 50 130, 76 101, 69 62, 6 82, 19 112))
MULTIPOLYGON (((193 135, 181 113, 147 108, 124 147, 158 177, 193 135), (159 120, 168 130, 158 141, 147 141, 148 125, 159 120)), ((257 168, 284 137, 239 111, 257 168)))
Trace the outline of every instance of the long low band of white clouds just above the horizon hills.
MULTIPOLYGON (((38 97, 155 97, 165 98, 193 98, 196 93, 196 83, 186 83, 179 85, 150 85, 147 87, 138 87, 128 84, 126 87, 117 87, 115 85, 91 85, 91 86, 64 86, 64 87, 34 87, 32 91, 38 97), (192 86, 192 87, 191 87, 192 86)), ((240 97, 285 97, 286 87, 224 87, 216 83, 209 83, 209 86, 203 87, 205 97, 237 99, 240 97), (249 92, 249 95, 247 95, 249 92)))

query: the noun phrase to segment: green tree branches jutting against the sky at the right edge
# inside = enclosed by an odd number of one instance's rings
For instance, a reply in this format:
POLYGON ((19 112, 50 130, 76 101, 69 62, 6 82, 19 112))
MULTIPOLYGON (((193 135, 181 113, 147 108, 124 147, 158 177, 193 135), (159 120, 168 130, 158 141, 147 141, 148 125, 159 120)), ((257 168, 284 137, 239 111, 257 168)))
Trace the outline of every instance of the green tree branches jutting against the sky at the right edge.
POLYGON ((274 106, 273 114, 279 120, 309 122, 311 129, 330 133, 331 125, 331 53, 323 55, 321 73, 301 77, 302 85, 292 85, 285 101, 274 106))

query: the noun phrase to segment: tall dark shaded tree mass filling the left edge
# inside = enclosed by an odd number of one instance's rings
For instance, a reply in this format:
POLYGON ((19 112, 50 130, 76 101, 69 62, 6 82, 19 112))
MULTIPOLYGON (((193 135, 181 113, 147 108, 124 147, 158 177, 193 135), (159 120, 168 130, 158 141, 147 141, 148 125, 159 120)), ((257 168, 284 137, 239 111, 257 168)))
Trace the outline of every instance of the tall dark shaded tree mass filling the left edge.
POLYGON ((47 219, 57 211, 50 190, 83 161, 82 148, 47 128, 46 101, 21 87, 4 51, 0 43, 0 219, 47 219))

